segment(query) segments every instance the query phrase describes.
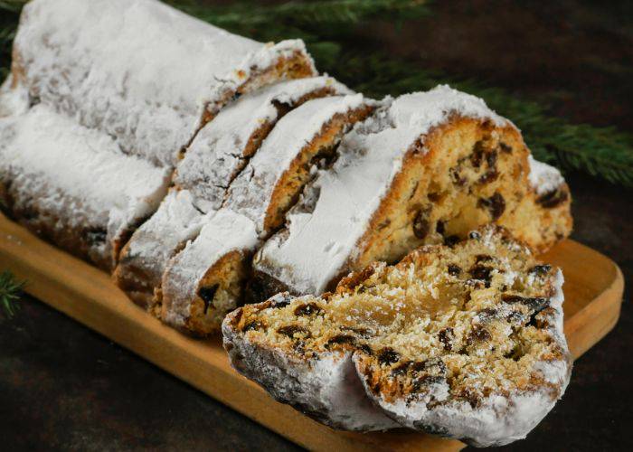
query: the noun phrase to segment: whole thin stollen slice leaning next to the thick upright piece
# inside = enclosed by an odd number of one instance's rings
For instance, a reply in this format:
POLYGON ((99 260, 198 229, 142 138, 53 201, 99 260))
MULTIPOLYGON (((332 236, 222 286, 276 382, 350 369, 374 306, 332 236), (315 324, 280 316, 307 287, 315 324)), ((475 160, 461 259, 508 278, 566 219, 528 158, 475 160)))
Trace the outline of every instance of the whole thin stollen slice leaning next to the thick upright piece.
POLYGON ((222 209, 170 260, 158 293, 165 323, 197 335, 219 330, 241 299, 260 240, 279 228, 316 166, 335 157, 341 137, 374 104, 361 94, 312 99, 279 120, 222 209))

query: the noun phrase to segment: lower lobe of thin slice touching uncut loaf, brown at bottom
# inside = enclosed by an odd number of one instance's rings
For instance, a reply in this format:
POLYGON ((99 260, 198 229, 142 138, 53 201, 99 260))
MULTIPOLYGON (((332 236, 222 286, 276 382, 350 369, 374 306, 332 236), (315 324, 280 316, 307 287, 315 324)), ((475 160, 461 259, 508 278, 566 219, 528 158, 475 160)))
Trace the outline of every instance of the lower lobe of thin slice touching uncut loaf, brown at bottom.
POLYGON ((188 190, 172 190, 121 250, 113 278, 137 305, 151 308, 167 262, 194 240, 215 211, 201 212, 188 190))

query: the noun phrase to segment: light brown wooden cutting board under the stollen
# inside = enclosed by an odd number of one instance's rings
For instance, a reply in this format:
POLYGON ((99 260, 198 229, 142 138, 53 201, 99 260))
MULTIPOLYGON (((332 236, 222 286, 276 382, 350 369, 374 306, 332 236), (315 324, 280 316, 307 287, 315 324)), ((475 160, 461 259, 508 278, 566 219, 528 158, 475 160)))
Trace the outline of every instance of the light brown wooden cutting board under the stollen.
MULTIPOLYGON (((624 282, 618 266, 573 240, 543 256, 565 275, 565 334, 577 358, 616 324, 624 282)), ((109 278, 0 215, 0 270, 26 279, 25 290, 66 315, 187 381, 303 447, 318 450, 458 450, 464 445, 412 432, 349 433, 324 427, 269 398, 234 372, 218 338, 194 340, 147 315, 109 278)), ((562 402, 564 403, 564 401, 562 402)))

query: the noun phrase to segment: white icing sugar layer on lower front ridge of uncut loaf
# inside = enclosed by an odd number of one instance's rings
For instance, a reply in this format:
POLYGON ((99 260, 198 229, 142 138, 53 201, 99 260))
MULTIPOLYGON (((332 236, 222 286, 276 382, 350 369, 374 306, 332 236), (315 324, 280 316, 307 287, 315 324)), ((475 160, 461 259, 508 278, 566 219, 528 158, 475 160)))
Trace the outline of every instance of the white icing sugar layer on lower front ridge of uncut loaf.
POLYGON ((38 208, 61 223, 107 229, 110 242, 165 196, 168 170, 123 155, 107 135, 42 104, 0 119, 0 135, 0 177, 17 198, 37 197, 38 208))

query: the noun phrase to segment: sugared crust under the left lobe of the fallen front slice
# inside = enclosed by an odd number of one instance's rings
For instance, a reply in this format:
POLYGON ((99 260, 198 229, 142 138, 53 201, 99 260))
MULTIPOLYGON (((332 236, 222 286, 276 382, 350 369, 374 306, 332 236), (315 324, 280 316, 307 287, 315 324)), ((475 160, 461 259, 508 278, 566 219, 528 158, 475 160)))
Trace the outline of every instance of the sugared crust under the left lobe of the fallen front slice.
POLYGON ((328 353, 308 363, 237 334, 231 328, 235 315, 227 315, 222 323, 231 366, 257 381, 276 400, 333 428, 371 431, 400 427, 367 398, 352 353, 328 353))

